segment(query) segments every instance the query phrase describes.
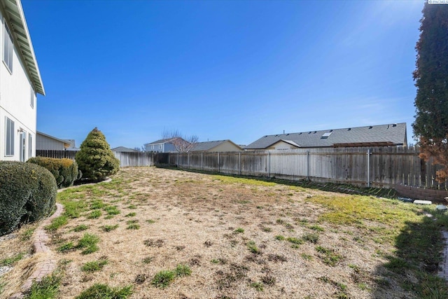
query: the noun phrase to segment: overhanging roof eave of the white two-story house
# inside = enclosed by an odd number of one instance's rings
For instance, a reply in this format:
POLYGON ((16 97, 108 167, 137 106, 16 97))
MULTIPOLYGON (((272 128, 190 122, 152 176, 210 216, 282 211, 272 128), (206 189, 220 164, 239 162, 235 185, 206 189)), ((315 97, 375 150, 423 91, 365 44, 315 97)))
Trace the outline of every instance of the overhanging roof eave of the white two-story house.
POLYGON ((31 43, 31 36, 29 36, 22 4, 20 3, 20 0, 1 1, 1 4, 3 4, 6 13, 5 17, 11 25, 10 31, 15 39, 14 44, 18 47, 18 52, 22 57, 25 68, 34 85, 34 89, 41 95, 45 95, 41 72, 39 71, 36 55, 34 55, 34 48, 31 43))

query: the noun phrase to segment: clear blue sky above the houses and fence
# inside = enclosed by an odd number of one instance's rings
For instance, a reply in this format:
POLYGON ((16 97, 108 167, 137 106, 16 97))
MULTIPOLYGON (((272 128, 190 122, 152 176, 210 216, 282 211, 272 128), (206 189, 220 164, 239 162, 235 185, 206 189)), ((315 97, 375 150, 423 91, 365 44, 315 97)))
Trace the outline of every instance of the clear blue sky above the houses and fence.
POLYGON ((266 134, 407 123, 423 1, 22 0, 37 130, 134 148, 164 130, 266 134))

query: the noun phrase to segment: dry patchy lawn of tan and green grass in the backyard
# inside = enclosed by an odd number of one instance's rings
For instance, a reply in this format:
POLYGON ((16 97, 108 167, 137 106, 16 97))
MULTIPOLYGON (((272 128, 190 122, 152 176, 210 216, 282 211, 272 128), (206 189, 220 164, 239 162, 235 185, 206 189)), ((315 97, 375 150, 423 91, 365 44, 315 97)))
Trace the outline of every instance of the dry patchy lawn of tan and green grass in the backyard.
MULTIPOLYGON (((102 298, 83 293, 94 284, 123 298, 446 294, 428 274, 437 254, 406 259, 415 227, 435 222, 419 206, 155 167, 124 168, 112 179, 58 195, 66 212, 47 228, 59 265, 55 298, 102 298)), ((35 227, 0 242, 0 261, 15 258, 0 297, 31 272, 35 227)), ((442 244, 428 242, 436 251, 442 244)))

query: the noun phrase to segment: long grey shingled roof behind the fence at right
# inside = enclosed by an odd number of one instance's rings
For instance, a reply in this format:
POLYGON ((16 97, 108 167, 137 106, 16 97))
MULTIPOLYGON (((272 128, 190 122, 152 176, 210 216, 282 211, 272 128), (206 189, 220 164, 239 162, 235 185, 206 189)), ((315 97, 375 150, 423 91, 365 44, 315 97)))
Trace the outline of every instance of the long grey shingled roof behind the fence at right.
POLYGON ((406 145, 406 123, 266 135, 245 147, 265 149, 278 141, 302 148, 406 145))

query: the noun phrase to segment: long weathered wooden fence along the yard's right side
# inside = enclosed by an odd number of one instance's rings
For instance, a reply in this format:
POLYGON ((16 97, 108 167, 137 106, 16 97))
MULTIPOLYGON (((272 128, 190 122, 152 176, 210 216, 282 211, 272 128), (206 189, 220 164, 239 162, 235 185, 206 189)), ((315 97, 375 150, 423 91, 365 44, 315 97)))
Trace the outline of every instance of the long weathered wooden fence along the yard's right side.
POLYGON ((169 163, 225 174, 393 187, 446 188, 440 169, 419 158, 417 147, 303 148, 290 151, 169 153, 169 163))

